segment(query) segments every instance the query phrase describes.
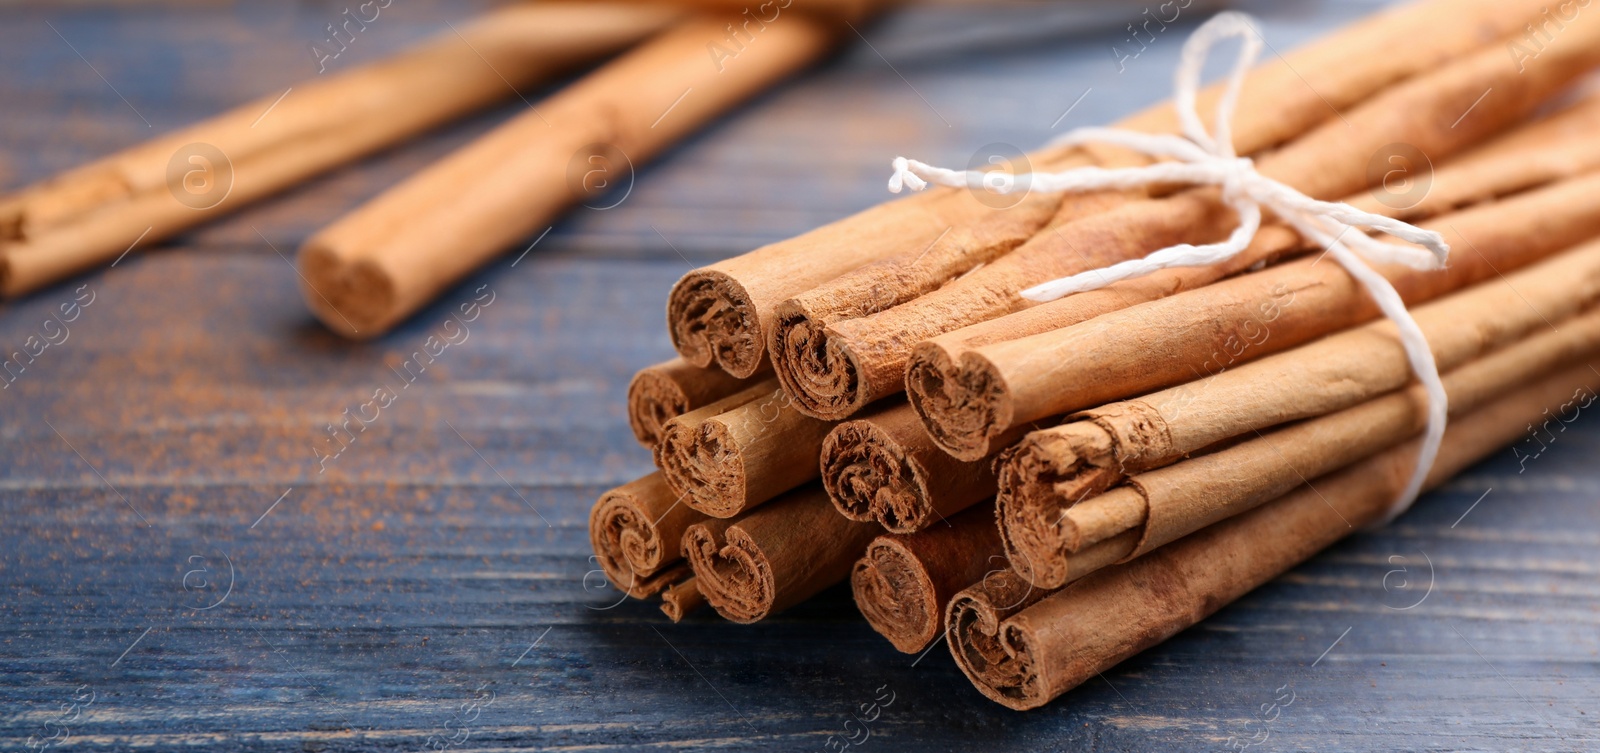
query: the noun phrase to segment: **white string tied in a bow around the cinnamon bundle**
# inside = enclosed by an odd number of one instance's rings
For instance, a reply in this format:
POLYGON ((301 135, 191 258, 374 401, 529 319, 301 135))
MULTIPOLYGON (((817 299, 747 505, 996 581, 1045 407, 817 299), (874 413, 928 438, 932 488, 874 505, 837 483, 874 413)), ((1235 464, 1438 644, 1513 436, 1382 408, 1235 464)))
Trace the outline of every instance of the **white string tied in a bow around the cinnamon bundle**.
POLYGON ((1142 259, 1130 259, 1106 269, 1051 280, 1024 289, 1021 296, 1029 301, 1054 301, 1062 296, 1104 288, 1118 280, 1144 277, 1171 267, 1205 267, 1224 262, 1250 246, 1250 241, 1261 229, 1261 209, 1266 206, 1278 219, 1298 230, 1302 238, 1326 248, 1328 256, 1366 288, 1368 296, 1378 304, 1378 309, 1395 323, 1411 371, 1416 373, 1418 380, 1427 393, 1427 427, 1422 432, 1422 449, 1418 454, 1411 480, 1382 520, 1382 523, 1389 523, 1410 508, 1411 502, 1421 492, 1427 473, 1434 467, 1434 459, 1438 456, 1440 441, 1445 438, 1450 403, 1438 376, 1438 365, 1434 363, 1434 352, 1429 349, 1422 329, 1411 318, 1411 313, 1406 312, 1405 302, 1394 286, 1389 285, 1389 280, 1370 267, 1370 262, 1403 264, 1418 270, 1437 270, 1445 267, 1450 257, 1450 245, 1437 232, 1422 230, 1421 227, 1382 214, 1360 211, 1346 203, 1310 198, 1290 185, 1262 176, 1256 171, 1250 158, 1234 153, 1234 109, 1238 104, 1245 74, 1256 62, 1261 45, 1262 40, 1256 34, 1251 18, 1234 11, 1216 14, 1195 29, 1189 40, 1184 42, 1182 56, 1174 75, 1173 94, 1182 136, 1146 134, 1115 128, 1077 128, 1051 142, 1056 147, 1090 142, 1114 144, 1171 161, 1141 168, 1077 168, 1064 173, 1032 173, 1000 182, 994 181, 992 174, 976 169, 936 168, 917 160, 896 157, 893 161, 894 174, 890 176, 890 190, 894 193, 899 193, 906 187, 922 190, 930 182, 997 193, 1019 190, 1059 193, 1133 189, 1150 184, 1195 184, 1221 187, 1222 201, 1238 214, 1238 227, 1221 243, 1198 246, 1181 243, 1155 251, 1142 259), (1200 90, 1200 72, 1205 67, 1206 54, 1210 54, 1211 46, 1229 37, 1240 40, 1240 50, 1222 98, 1218 102, 1216 125, 1213 126, 1216 136, 1213 137, 1200 122, 1200 115, 1195 110, 1195 98, 1200 90), (984 181, 986 176, 989 181, 984 181), (1384 232, 1421 248, 1382 243, 1368 237, 1362 229, 1384 232))

